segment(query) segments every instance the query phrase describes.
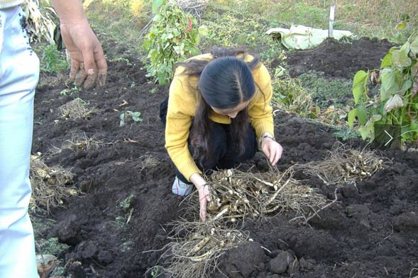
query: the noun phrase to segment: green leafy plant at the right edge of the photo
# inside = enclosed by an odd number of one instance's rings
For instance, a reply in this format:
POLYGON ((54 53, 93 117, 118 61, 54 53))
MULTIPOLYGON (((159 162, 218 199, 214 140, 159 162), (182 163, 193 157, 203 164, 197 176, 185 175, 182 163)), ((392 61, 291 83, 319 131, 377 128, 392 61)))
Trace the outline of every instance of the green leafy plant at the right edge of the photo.
MULTIPOLYGON (((404 45, 392 47, 380 64, 378 82, 380 94, 370 98, 370 81, 375 81, 374 71, 358 71, 353 80, 353 97, 356 108, 348 113, 352 128, 358 121, 363 139, 376 139, 382 125, 400 129, 402 143, 418 139, 418 35, 412 35, 404 45)), ((383 142, 380 142, 383 143, 383 142)))

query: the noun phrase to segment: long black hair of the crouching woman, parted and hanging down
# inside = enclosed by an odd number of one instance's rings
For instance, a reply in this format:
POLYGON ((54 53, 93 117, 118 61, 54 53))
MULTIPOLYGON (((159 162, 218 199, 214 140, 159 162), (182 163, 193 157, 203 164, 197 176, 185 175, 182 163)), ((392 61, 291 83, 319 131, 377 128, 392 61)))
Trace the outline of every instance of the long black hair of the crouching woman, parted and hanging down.
MULTIPOLYGON (((190 132, 193 158, 203 166, 211 157, 211 137, 206 134, 213 132, 214 123, 209 119, 211 106, 219 109, 234 108, 236 105, 250 100, 255 94, 255 83, 251 71, 260 62, 254 57, 250 62, 244 62, 244 49, 227 47, 215 48, 211 51, 214 59, 189 59, 178 63, 185 68, 182 74, 199 78, 197 90, 197 109, 190 132)), ((190 85, 189 85, 190 86, 190 85)), ((244 151, 244 134, 248 127, 248 109, 238 112, 231 119, 231 138, 233 148, 239 153, 244 151)))

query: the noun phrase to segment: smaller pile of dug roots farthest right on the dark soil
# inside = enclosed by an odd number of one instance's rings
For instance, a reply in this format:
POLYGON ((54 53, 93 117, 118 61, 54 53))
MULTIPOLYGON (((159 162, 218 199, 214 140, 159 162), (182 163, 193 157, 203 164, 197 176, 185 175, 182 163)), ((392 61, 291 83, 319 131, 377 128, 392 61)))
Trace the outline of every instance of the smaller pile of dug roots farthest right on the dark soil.
POLYGON ((336 144, 324 160, 297 165, 296 168, 320 178, 327 185, 342 186, 370 178, 386 164, 385 158, 373 151, 359 151, 336 144))

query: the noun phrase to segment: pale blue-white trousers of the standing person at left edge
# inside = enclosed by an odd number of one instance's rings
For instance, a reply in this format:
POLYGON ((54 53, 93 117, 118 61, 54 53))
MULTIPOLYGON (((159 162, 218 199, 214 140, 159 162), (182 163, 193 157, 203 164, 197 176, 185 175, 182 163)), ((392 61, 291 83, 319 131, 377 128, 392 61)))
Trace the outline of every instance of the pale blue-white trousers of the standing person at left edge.
POLYGON ((29 158, 39 60, 31 50, 20 7, 0 9, 0 277, 38 277, 29 158))

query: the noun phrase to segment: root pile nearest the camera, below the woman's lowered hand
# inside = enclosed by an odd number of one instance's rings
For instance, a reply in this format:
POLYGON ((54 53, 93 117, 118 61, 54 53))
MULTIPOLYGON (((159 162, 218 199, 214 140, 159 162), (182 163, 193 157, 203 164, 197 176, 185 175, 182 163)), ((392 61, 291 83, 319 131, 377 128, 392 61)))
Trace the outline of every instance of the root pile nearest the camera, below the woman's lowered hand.
POLYGON ((155 267, 154 271, 158 272, 155 277, 162 273, 164 277, 210 277, 218 258, 249 238, 248 232, 213 222, 204 224, 183 219, 172 225, 172 242, 165 246, 165 253, 160 257, 168 260, 168 266, 155 267))

